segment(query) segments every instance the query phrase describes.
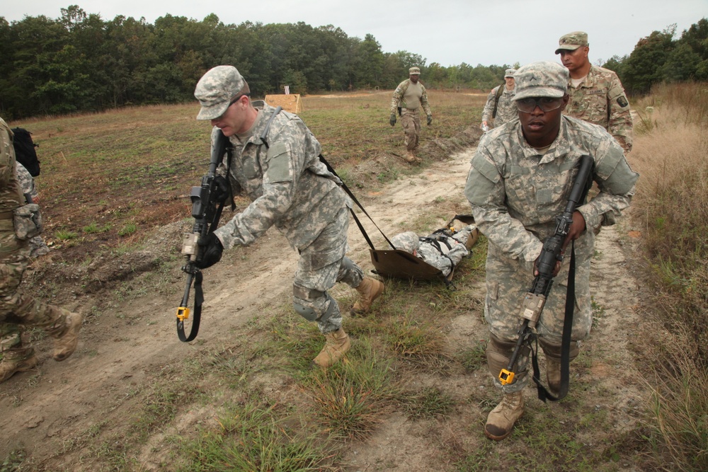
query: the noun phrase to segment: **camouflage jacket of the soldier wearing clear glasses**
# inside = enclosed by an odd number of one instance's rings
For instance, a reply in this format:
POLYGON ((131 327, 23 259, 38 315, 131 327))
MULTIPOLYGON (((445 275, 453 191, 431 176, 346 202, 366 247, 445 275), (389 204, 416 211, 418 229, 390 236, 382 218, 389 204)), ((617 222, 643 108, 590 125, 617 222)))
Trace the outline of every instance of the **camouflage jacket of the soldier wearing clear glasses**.
POLYGON ((597 125, 566 116, 544 156, 527 144, 518 121, 481 137, 464 193, 494 252, 526 263, 536 260, 542 241, 554 233, 556 216, 564 212, 584 154, 595 161, 593 180, 600 192, 578 208, 587 226, 580 239, 614 224, 634 195, 639 175, 615 139, 597 125))

